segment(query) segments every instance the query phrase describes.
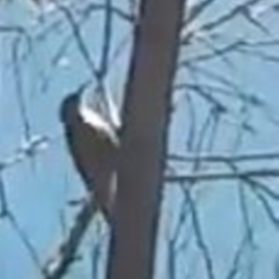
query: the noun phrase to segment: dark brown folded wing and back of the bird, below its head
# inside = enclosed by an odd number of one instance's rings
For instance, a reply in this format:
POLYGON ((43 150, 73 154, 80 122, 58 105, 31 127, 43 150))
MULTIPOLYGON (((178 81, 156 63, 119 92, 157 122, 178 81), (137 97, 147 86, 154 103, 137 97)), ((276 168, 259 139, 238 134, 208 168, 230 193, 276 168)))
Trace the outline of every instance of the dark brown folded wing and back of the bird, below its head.
POLYGON ((100 209, 109 216, 116 183, 117 149, 109 139, 100 137, 86 123, 66 127, 66 138, 73 163, 86 189, 94 193, 100 209))

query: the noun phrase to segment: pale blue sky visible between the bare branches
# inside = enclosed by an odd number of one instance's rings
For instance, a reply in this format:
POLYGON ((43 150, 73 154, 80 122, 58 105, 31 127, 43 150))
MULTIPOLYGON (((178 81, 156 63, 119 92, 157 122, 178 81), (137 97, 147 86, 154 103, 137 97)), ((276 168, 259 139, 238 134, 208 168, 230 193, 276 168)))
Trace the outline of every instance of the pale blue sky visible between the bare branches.
MULTIPOLYGON (((45 17, 45 22, 36 23, 33 11, 25 5, 24 1, 2 2, 0 5, 0 25, 21 25, 28 30, 32 38, 31 52, 27 59, 19 63, 22 93, 27 107, 27 117, 31 125, 31 134, 52 137, 47 149, 41 151, 34 160, 24 160, 20 164, 7 168, 2 174, 10 209, 15 214, 24 232, 31 239, 40 260, 44 262, 53 252, 59 240, 63 238, 65 232, 63 232, 61 223, 66 223, 66 227, 69 227, 71 217, 76 211, 76 209, 69 209, 66 202, 68 199, 84 195, 82 183, 75 173, 61 136, 61 124, 58 116, 59 104, 63 96, 75 90, 80 82, 91 77, 91 73, 77 50, 75 40, 73 38, 72 40, 67 39, 70 38, 71 31, 68 22, 61 13, 51 13, 45 17), (40 33, 56 20, 62 20, 61 25, 42 38, 40 33), (50 61, 53 61, 52 59, 54 59, 59 47, 65 42, 67 42, 66 51, 53 66, 50 61)), ((197 3, 197 1, 189 2, 191 6, 197 3)), ((77 6, 82 7, 85 3, 87 1, 80 1, 77 6)), ((227 13, 230 8, 239 3, 244 3, 244 1, 215 1, 198 20, 188 27, 187 32, 199 29, 204 22, 214 20, 227 13)), ((276 1, 259 1, 259 3, 268 6, 276 3, 276 1)), ((125 0, 117 1, 116 4, 127 9, 125 0)), ((263 12, 265 6, 261 5, 253 6, 252 11, 257 19, 268 27, 271 35, 264 34, 255 26, 249 24, 243 17, 236 17, 234 21, 225 24, 214 32, 215 39, 209 38, 208 34, 201 32, 199 34, 200 38, 196 36, 192 45, 181 50, 180 59, 189 60, 194 59, 199 54, 211 53, 212 50, 206 47, 206 41, 207 44, 214 42, 222 47, 222 45, 228 45, 239 38, 246 38, 251 41, 278 38, 278 32, 276 31, 278 13, 265 13, 263 12)), ((96 13, 82 26, 84 40, 95 63, 98 63, 98 59, 100 59, 102 20, 103 15, 96 13)), ((211 35, 213 35, 212 33, 211 35)), ((15 69, 13 68, 13 57, 11 55, 11 45, 13 45, 14 39, 15 34, 0 33, 0 130, 4 131, 4 133, 1 133, 4 136, 0 137, 1 161, 13 155, 24 139, 22 114, 19 109, 18 90, 15 87, 15 69)), ((107 82, 107 86, 110 87, 111 93, 119 105, 123 97, 123 84, 126 78, 131 39, 129 24, 114 18, 112 37, 114 49, 121 42, 127 43, 121 49, 121 54, 117 56, 117 59, 113 60, 105 82, 107 82)), ((270 55, 275 56, 278 53, 278 45, 265 50, 268 50, 270 55)), ((19 45, 19 53, 24 54, 26 51, 27 43, 22 39, 19 45)), ((241 90, 256 94, 258 98, 263 99, 266 102, 266 107, 264 109, 245 107, 241 101, 235 98, 228 98, 216 93, 214 96, 227 105, 232 114, 224 116, 220 120, 212 152, 234 151, 233 146, 243 121, 248 121, 256 132, 243 135, 241 146, 236 149, 236 153, 278 150, 278 137, 276 137, 278 126, 270 121, 271 116, 279 120, 278 63, 265 63, 261 59, 248 56, 248 54, 243 55, 234 52, 229 53, 227 57, 231 59, 233 66, 229 66, 229 63, 224 61, 225 59, 201 61, 195 63, 195 66, 212 70, 216 75, 225 75, 228 80, 233 80, 238 84, 241 90)), ((200 72, 195 75, 185 69, 179 71, 176 82, 200 82, 217 86, 217 82, 214 83, 212 79, 200 72)), ((213 93, 215 94, 215 92, 213 93)), ((187 94, 190 95, 195 107, 195 146, 199 131, 209 114, 209 103, 206 103, 203 98, 197 96, 193 91, 187 91, 187 94)), ((169 150, 188 153, 186 141, 192 122, 186 91, 174 92, 175 102, 176 112, 172 116, 169 150)), ((213 128, 213 124, 209 126, 209 134, 211 128, 213 128)), ((206 141, 203 149, 206 149, 206 141)), ((276 167, 276 163, 273 163, 274 167, 276 167)), ((257 165, 246 164, 243 165, 243 168, 255 166, 257 165)), ((185 171, 185 168, 189 170, 190 167, 190 165, 187 165, 183 166, 182 169, 185 171)), ((262 165, 259 165, 259 167, 262 167, 262 165)), ((224 169, 220 165, 215 168, 217 170, 224 169)), ((266 182, 274 188, 278 184, 276 180, 266 182)), ((243 216, 239 211, 238 184, 236 181, 199 183, 197 190, 194 192, 198 201, 197 207, 199 220, 202 223, 202 232, 214 259, 213 268, 216 278, 225 278, 232 262, 234 250, 236 250, 237 243, 241 241, 243 234, 243 222, 241 221, 243 216)), ((176 186, 169 186, 164 194, 160 238, 158 240, 160 249, 158 249, 157 257, 157 276, 167 279, 166 239, 171 237, 170 235, 174 232, 181 209, 180 206, 183 203, 183 195, 179 187, 176 186)), ((249 262, 247 259, 255 261, 257 266, 255 278, 262 278, 263 276, 266 279, 275 278, 273 263, 276 254, 279 252, 278 232, 266 218, 266 214, 255 196, 247 194, 247 197, 250 218, 253 227, 255 227, 255 238, 258 245, 255 250, 246 251, 246 254, 251 253, 250 257, 249 255, 248 257, 243 256, 243 273, 239 278, 248 277, 249 264, 251 266, 252 261, 249 262)), ((273 206, 278 209, 278 203, 273 204, 273 206)), ((94 241, 96 242, 96 235, 98 234, 98 225, 96 224, 94 223, 91 228, 93 234, 88 235, 84 240, 84 250, 86 251, 84 259, 75 265, 68 278, 90 278, 91 244, 94 241)), ((193 232, 190 228, 189 217, 186 224, 183 225, 183 233, 179 241, 183 241, 184 236, 193 232)), ((105 234, 104 227, 102 227, 100 234, 105 234)), ((189 237, 191 239, 189 250, 177 255, 177 278, 183 278, 185 269, 192 272, 190 271, 191 268, 195 272, 193 278, 206 278, 204 261, 195 243, 195 236, 189 237), (195 264, 197 264, 196 268, 195 264)), ((38 278, 37 272, 29 252, 22 244, 15 229, 10 226, 7 220, 0 220, 1 278, 38 278)))

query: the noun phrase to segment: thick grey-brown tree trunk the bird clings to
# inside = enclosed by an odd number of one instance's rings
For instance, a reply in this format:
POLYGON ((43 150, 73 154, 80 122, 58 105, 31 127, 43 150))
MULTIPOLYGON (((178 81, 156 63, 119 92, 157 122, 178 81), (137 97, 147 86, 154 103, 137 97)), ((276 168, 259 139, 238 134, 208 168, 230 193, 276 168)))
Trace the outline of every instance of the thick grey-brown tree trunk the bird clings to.
POLYGON ((123 105, 108 279, 147 279, 153 275, 168 108, 183 3, 141 3, 123 105))

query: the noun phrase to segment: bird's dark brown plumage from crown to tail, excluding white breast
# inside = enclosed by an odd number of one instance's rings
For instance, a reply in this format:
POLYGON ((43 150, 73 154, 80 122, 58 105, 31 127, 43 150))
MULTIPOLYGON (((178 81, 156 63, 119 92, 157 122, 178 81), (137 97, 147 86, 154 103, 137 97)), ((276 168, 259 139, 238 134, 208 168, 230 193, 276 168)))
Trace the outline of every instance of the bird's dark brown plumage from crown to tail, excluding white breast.
POLYGON ((110 137, 84 123, 78 112, 80 94, 67 96, 61 104, 60 117, 64 126, 70 156, 97 206, 109 218, 116 188, 116 156, 118 146, 110 137))

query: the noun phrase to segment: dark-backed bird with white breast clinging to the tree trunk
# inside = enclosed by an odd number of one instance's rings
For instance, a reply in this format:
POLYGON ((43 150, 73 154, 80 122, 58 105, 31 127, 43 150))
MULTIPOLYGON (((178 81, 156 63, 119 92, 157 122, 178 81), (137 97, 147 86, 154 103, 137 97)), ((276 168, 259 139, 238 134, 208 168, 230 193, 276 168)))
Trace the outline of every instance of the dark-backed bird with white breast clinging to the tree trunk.
POLYGON ((116 195, 121 130, 114 103, 105 93, 83 88, 63 99, 60 119, 75 168, 109 221, 116 195))

